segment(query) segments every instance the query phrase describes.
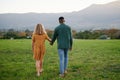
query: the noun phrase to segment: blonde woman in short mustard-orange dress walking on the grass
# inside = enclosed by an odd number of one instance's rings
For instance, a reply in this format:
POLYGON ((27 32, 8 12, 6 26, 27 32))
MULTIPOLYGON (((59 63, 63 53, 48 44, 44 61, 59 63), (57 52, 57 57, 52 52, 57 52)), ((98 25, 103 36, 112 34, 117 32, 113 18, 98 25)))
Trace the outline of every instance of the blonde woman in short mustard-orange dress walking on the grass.
POLYGON ((51 41, 44 26, 37 24, 32 36, 32 50, 34 53, 33 58, 36 60, 37 76, 40 76, 40 73, 43 71, 42 65, 45 54, 45 40, 51 41))

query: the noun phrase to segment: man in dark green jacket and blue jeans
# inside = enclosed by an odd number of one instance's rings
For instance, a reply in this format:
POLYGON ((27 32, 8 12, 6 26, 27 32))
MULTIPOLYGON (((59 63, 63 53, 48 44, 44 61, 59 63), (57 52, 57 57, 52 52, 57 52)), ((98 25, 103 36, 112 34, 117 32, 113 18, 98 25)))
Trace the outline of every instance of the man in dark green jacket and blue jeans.
POLYGON ((73 39, 71 28, 65 24, 64 17, 59 17, 59 23, 60 25, 54 30, 51 45, 53 45, 57 39, 60 59, 60 77, 64 77, 64 74, 67 73, 68 50, 72 50, 73 39))

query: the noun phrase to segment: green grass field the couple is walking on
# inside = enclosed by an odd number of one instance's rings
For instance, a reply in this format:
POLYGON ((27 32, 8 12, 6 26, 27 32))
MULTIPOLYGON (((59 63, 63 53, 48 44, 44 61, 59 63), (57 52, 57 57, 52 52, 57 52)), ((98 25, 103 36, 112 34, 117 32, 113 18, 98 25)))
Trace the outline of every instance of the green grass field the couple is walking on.
POLYGON ((120 40, 74 40, 63 79, 56 44, 46 42, 40 77, 32 56, 31 40, 0 40, 0 80, 120 80, 120 40))

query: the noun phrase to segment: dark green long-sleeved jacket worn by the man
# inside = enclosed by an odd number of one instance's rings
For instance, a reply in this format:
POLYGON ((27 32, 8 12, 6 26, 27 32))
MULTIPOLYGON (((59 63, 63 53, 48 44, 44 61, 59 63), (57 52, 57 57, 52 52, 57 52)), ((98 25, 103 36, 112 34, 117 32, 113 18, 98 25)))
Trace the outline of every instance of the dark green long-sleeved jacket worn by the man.
POLYGON ((60 24, 54 30, 51 43, 53 44, 57 39, 58 49, 72 48, 72 32, 71 28, 66 24, 60 24))

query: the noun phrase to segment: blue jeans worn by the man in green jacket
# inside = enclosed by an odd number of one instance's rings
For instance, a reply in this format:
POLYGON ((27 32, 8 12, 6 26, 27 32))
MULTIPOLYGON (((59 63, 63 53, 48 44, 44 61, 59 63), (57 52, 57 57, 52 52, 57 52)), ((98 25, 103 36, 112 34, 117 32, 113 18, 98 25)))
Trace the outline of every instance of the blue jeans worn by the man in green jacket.
POLYGON ((60 59, 60 74, 63 74, 67 69, 68 64, 68 49, 58 49, 60 59))

